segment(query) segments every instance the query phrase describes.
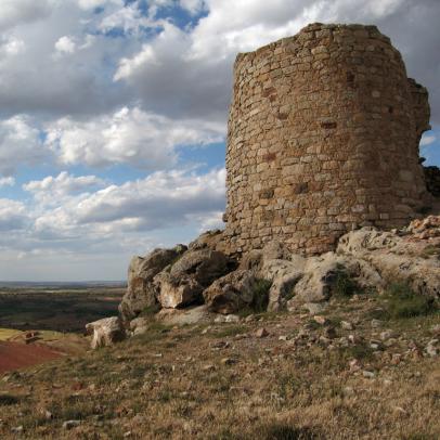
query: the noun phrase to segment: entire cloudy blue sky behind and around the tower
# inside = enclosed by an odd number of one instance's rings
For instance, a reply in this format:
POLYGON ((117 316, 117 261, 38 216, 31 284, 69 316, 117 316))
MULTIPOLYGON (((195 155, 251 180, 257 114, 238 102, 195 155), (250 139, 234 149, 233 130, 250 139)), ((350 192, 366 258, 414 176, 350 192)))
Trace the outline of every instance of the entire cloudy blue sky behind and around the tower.
POLYGON ((221 228, 234 59, 313 22, 391 38, 440 165, 439 0, 0 0, 0 281, 125 280, 221 228))

